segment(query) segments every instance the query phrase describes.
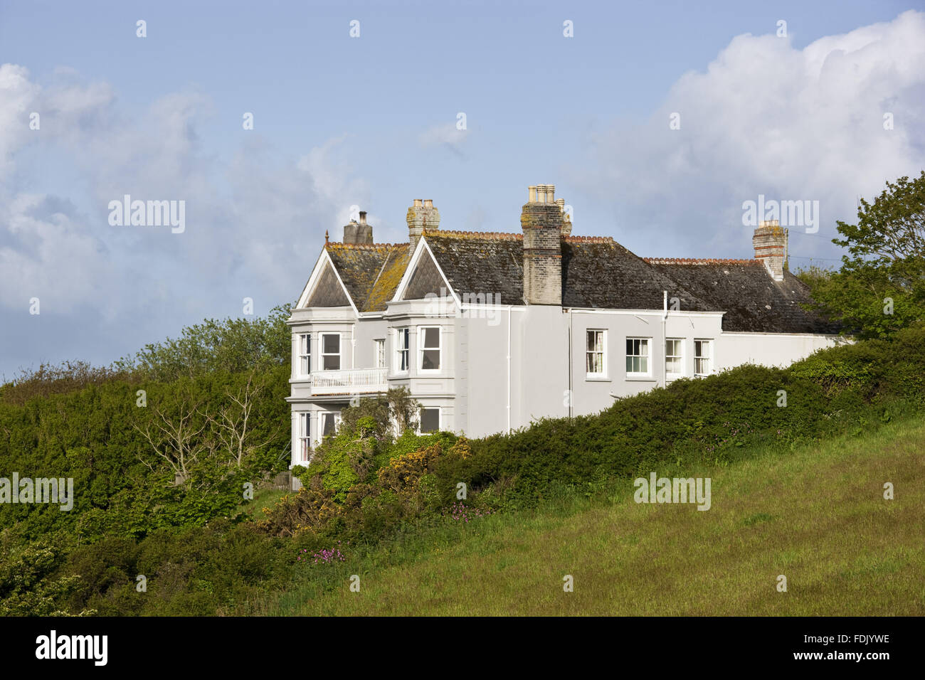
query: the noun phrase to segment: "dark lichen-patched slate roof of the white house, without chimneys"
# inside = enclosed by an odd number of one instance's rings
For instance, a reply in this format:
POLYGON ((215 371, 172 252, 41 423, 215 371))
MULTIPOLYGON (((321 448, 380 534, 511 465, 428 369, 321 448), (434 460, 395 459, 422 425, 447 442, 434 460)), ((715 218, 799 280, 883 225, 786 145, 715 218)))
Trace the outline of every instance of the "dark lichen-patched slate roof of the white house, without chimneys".
MULTIPOLYGON (((428 230, 424 238, 461 298, 492 293, 501 304, 524 303, 522 234, 428 230)), ((408 266, 408 244, 326 248, 357 308, 384 311, 408 266)), ((662 291, 682 310, 725 312, 727 331, 838 332, 799 306, 809 300, 802 281, 790 272, 775 281, 759 260, 642 258, 609 237, 562 238, 562 306, 661 309, 662 291)))

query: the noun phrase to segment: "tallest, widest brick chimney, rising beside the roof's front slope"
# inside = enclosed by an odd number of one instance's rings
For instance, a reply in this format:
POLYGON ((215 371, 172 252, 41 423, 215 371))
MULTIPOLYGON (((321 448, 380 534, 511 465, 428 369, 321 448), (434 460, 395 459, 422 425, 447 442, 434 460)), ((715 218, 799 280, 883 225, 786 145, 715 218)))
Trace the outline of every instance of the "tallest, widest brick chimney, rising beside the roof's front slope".
POLYGON ((524 301, 562 303, 562 208, 556 204, 554 184, 529 188, 521 211, 524 229, 524 301))

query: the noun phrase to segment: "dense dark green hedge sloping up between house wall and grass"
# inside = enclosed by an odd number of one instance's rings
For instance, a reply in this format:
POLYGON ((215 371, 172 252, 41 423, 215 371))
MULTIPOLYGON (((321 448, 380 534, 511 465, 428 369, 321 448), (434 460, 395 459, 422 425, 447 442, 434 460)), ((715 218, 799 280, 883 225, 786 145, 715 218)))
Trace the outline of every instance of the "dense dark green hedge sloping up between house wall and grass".
POLYGON ((504 485, 530 504, 550 485, 594 486, 665 464, 724 464, 752 444, 780 447, 875 427, 925 405, 925 328, 816 352, 788 368, 744 365, 617 400, 600 414, 548 418, 470 442, 438 463, 446 500, 456 484, 504 485), (786 406, 779 406, 779 390, 786 406))

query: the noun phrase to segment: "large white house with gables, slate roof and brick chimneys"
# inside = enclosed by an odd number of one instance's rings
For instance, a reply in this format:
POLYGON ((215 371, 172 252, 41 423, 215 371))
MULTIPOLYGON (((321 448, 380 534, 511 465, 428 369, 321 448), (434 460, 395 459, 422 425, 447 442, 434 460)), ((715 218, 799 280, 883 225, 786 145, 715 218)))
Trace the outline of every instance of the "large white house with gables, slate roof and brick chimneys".
POLYGON ((327 238, 292 328, 292 464, 351 399, 404 386, 422 431, 480 437, 745 363, 788 365, 837 341, 804 311, 786 230, 750 260, 641 258, 573 236, 552 185, 529 188, 519 233, 439 229, 408 209, 409 242, 373 242, 365 213, 327 238))

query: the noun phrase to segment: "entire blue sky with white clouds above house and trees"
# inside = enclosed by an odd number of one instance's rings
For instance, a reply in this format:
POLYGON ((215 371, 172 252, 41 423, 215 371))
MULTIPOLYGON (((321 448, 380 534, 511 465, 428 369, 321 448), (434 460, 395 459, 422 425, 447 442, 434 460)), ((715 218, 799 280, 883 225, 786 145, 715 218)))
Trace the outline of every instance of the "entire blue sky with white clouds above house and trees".
POLYGON ((922 9, 4 2, 0 376, 290 302, 352 204, 376 241, 406 240, 414 198, 514 231, 555 183, 576 234, 750 257, 742 203, 765 194, 820 202, 794 266, 836 258, 857 196, 925 167, 922 9), (125 193, 184 200, 186 231, 110 226, 125 193))

